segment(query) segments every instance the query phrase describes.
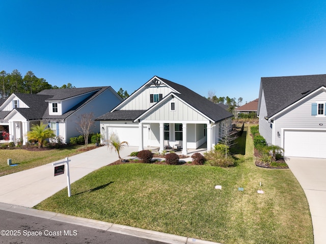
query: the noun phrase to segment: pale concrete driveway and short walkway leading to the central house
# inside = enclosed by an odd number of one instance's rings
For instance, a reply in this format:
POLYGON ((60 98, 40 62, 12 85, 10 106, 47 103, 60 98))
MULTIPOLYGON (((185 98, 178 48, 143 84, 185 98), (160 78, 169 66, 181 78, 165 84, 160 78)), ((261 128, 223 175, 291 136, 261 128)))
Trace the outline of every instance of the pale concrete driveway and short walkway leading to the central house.
MULTIPOLYGON (((133 151, 138 151, 138 147, 125 147, 120 152, 121 157, 133 151)), ((73 183, 119 158, 115 151, 103 146, 71 156, 69 159, 70 183, 73 183)), ((0 177, 0 202, 33 207, 67 187, 66 173, 53 176, 55 167, 52 163, 0 177)))

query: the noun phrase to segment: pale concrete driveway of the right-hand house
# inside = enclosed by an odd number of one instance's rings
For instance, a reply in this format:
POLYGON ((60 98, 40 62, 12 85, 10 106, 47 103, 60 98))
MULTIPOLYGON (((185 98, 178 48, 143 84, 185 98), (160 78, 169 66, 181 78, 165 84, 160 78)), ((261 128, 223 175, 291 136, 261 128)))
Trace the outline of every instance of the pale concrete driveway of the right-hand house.
POLYGON ((314 243, 325 243, 326 159, 289 157, 286 163, 307 196, 314 231, 314 243))

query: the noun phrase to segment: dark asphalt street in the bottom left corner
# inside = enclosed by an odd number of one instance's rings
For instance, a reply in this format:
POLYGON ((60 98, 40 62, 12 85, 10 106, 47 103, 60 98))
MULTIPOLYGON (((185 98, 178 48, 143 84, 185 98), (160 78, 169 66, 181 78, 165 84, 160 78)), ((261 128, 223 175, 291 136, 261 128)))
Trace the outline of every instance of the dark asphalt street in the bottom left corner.
POLYGON ((4 210, 0 223, 0 243, 166 243, 4 210))

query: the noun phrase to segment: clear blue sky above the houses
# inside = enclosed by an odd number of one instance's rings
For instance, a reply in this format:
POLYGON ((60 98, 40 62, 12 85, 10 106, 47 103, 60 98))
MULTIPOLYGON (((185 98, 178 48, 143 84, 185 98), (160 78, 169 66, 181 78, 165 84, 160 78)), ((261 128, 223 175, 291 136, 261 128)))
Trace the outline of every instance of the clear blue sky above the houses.
POLYGON ((51 85, 122 87, 154 75, 206 96, 258 98, 260 78, 325 74, 323 1, 4 1, 0 70, 51 85))

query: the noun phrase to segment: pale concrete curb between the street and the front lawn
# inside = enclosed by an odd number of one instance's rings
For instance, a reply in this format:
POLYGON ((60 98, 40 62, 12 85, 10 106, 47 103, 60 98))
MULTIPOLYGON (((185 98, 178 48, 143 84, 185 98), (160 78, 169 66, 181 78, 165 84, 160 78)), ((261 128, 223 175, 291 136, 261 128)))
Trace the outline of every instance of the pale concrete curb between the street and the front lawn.
POLYGON ((55 220, 55 221, 70 223, 74 225, 101 229, 104 231, 110 231, 110 232, 115 232, 124 235, 131 235, 135 237, 156 240, 156 241, 161 241, 161 242, 166 242, 171 244, 191 244, 191 243, 221 244, 221 243, 207 241, 207 240, 200 240, 196 238, 166 234, 158 231, 145 230, 145 229, 140 229, 140 228, 135 228, 130 226, 112 224, 103 221, 91 220, 91 219, 76 217, 72 215, 66 215, 62 213, 38 210, 34 208, 23 207, 23 206, 8 204, 8 203, 0 203, 0 210, 21 213, 21 214, 35 216, 38 218, 55 220))

